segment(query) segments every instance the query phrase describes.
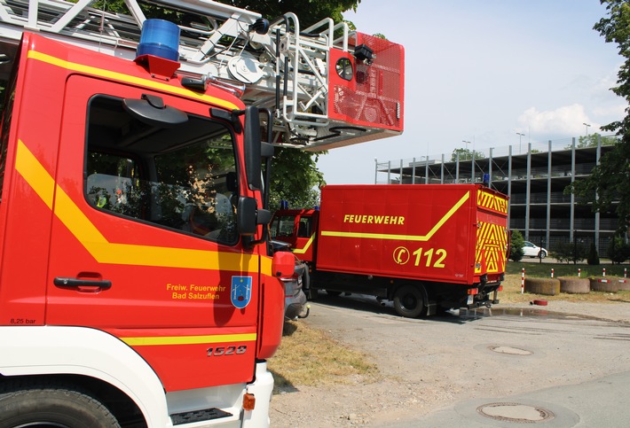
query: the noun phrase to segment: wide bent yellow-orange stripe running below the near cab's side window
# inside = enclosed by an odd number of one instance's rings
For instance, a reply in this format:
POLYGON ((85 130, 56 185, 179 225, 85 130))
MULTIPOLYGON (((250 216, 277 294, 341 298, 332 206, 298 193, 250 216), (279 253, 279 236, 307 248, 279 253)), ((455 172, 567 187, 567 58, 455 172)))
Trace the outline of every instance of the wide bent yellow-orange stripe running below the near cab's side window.
POLYGON ((18 140, 15 165, 20 175, 49 208, 52 206, 53 195, 56 193, 54 196, 54 214, 99 263, 220 269, 252 273, 258 271, 258 264, 260 263, 260 272, 263 275, 272 276, 271 258, 259 257, 256 254, 111 243, 83 214, 83 211, 67 195, 66 191, 54 183, 52 176, 21 140, 18 140))

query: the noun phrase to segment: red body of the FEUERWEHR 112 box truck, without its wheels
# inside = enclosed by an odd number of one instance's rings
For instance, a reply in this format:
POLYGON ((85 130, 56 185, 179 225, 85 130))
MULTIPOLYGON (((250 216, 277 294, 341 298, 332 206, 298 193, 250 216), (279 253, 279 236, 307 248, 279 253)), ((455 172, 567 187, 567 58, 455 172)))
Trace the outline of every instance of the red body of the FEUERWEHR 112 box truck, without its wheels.
POLYGON ((293 230, 272 233, 318 271, 476 284, 505 272, 507 212, 480 185, 328 185, 319 210, 276 212, 293 230))

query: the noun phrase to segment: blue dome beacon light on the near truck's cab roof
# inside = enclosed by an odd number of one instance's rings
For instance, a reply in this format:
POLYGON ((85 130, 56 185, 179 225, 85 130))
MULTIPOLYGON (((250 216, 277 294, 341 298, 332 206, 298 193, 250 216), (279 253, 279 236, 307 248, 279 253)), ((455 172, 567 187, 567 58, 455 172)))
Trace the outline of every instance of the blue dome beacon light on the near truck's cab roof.
POLYGON ((136 58, 154 55, 171 61, 179 59, 179 27, 164 19, 146 19, 142 26, 136 58))

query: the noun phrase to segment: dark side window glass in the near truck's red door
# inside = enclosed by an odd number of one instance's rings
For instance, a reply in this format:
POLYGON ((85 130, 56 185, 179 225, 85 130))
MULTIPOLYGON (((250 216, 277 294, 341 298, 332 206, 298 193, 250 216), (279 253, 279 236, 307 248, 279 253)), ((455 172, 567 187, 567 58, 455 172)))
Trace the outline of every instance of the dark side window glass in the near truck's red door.
POLYGON ((88 122, 85 194, 89 203, 222 244, 238 240, 232 133, 189 114, 175 128, 140 123, 122 100, 94 97, 88 122))

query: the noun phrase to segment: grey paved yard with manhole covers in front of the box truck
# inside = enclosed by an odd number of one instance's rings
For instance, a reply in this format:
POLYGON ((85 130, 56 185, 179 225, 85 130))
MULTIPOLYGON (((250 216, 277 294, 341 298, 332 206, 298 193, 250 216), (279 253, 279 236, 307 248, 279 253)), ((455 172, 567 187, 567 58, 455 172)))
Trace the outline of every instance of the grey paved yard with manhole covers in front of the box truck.
MULTIPOLYGON (((598 307, 607 314, 605 305, 598 307)), ((615 307, 630 312, 626 303, 615 307)), ((630 323, 624 321, 500 305, 410 320, 358 295, 324 296, 307 320, 373 355, 388 378, 403 379, 410 407, 383 406, 373 426, 630 426, 630 323), (450 392, 452 400, 414 414, 413 403, 429 390, 450 392)))

